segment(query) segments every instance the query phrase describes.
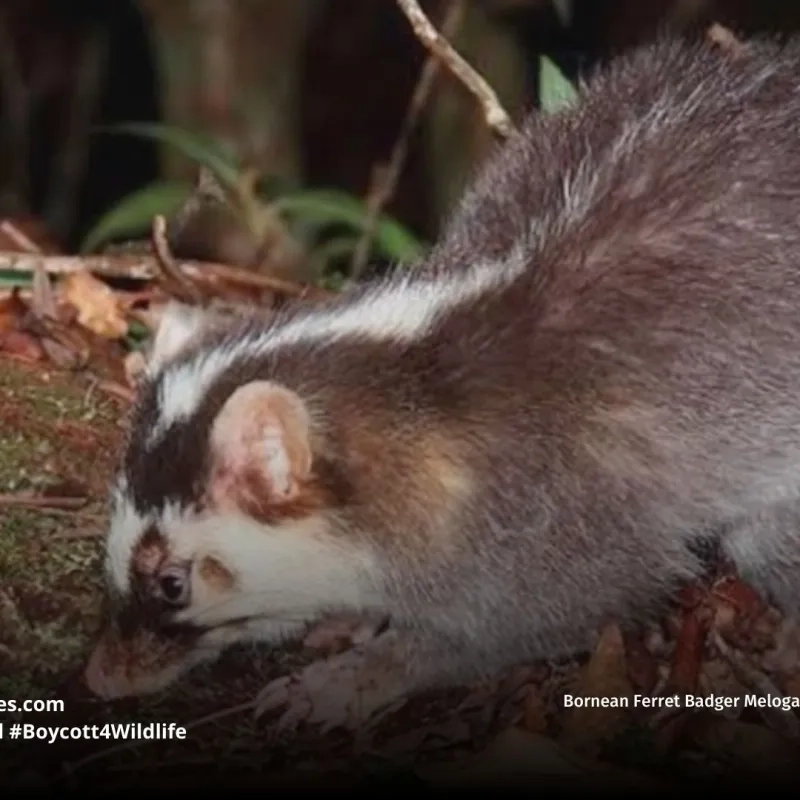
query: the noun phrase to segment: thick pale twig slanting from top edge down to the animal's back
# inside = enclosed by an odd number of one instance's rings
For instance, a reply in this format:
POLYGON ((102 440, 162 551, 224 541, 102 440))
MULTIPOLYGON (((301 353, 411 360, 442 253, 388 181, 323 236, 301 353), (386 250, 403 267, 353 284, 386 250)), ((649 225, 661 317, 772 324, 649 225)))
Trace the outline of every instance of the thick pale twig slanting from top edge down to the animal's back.
POLYGON ((500 105, 491 86, 456 52, 425 16, 417 0, 397 0, 402 12, 411 23, 417 38, 431 53, 445 63, 483 108, 486 124, 495 134, 505 139, 514 132, 514 125, 500 105))

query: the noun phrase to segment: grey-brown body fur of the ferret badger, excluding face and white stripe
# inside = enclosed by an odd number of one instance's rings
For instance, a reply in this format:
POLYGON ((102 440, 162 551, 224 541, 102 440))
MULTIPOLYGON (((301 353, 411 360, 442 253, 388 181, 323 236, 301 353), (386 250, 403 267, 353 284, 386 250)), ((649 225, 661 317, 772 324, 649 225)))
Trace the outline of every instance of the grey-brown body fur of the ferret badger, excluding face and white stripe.
POLYGON ((383 610, 420 683, 642 619, 698 574, 691 547, 708 535, 797 610, 799 225, 800 44, 639 50, 577 110, 527 121, 421 279, 486 258, 524 258, 520 277, 418 343, 242 360, 154 449, 146 388, 130 489, 141 508, 198 500, 237 385, 309 398, 336 535, 380 554, 383 610), (469 480, 446 517, 418 480, 431 441, 469 480))

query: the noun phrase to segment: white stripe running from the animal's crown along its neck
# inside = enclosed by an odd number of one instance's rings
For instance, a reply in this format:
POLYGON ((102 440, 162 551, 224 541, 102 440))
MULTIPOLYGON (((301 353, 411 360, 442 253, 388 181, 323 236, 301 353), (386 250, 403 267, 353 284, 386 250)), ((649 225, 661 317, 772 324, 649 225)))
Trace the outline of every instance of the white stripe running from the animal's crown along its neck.
POLYGON ((214 381, 242 358, 263 356, 292 344, 327 344, 347 337, 413 342, 442 314, 510 284, 525 266, 515 252, 505 261, 479 264, 435 281, 403 275, 376 286, 348 306, 312 311, 285 325, 229 341, 172 369, 167 367, 159 389, 158 422, 148 445, 155 444, 172 423, 190 417, 214 381))

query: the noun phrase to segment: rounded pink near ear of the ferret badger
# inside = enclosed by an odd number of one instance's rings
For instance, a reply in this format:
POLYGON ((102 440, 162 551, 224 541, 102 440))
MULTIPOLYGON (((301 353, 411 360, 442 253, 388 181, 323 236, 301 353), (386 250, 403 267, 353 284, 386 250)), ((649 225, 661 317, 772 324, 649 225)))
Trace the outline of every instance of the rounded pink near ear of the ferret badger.
POLYGON ((214 502, 252 507, 295 499, 311 471, 309 433, 294 392, 268 381, 240 386, 211 430, 214 502))

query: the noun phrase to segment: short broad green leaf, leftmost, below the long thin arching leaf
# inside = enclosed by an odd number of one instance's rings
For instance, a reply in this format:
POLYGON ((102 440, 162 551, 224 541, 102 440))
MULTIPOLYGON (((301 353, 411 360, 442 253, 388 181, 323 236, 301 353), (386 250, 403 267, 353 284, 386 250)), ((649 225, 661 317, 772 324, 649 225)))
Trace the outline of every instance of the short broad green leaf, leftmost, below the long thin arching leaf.
POLYGON ((81 252, 96 250, 117 237, 132 238, 146 232, 153 217, 169 217, 192 191, 191 184, 157 181, 123 197, 94 224, 81 245, 81 252))

